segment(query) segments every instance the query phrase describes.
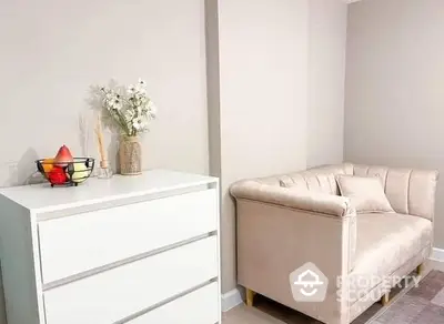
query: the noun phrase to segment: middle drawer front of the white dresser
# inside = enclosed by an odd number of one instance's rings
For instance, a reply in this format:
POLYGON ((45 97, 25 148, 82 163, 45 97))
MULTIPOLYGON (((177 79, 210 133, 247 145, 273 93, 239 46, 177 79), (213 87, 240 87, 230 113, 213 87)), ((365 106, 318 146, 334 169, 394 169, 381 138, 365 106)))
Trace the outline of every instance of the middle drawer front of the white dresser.
POLYGON ((211 236, 44 292, 47 324, 110 324, 218 276, 211 236))

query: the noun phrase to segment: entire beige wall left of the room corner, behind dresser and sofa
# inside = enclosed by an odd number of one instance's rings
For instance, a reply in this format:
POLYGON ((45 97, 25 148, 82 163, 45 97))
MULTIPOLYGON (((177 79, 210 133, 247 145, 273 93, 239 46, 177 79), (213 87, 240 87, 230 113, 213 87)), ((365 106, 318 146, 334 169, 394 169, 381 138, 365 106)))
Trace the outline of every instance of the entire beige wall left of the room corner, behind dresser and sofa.
POLYGON ((62 144, 97 156, 91 121, 87 139, 79 126, 89 85, 144 77, 159 107, 144 168, 221 176, 223 291, 234 288, 229 185, 342 156, 344 2, 22 2, 0 11, 0 185, 24 183, 62 144))

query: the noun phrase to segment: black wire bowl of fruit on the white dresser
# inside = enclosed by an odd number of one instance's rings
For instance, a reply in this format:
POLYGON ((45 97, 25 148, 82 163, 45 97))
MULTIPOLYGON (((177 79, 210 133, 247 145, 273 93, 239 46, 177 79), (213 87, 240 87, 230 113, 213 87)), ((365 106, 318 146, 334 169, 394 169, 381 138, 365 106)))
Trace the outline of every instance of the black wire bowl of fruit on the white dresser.
POLYGON ((70 162, 54 161, 54 159, 41 159, 36 161, 37 170, 54 185, 79 185, 90 178, 94 170, 94 159, 73 158, 70 162))

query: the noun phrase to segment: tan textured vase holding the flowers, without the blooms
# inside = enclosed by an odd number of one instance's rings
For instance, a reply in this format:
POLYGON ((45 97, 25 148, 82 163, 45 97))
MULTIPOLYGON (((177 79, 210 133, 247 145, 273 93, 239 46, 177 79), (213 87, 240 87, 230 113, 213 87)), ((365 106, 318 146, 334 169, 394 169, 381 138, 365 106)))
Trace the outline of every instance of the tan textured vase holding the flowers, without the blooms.
POLYGON ((137 175, 142 173, 142 146, 138 136, 121 136, 119 160, 121 174, 137 175))

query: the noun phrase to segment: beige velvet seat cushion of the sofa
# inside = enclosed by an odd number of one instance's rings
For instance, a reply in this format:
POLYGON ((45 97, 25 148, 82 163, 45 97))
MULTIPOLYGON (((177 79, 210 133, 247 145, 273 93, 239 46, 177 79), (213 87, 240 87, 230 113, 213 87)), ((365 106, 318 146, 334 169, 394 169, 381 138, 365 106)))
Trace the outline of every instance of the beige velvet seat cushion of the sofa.
POLYGON ((369 213, 359 214, 356 223, 354 269, 349 280, 352 285, 359 285, 360 295, 389 280, 398 267, 432 243, 432 222, 418 216, 369 213))

